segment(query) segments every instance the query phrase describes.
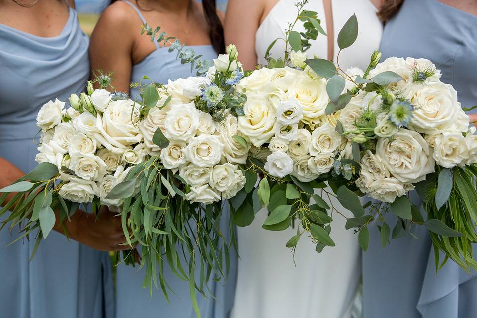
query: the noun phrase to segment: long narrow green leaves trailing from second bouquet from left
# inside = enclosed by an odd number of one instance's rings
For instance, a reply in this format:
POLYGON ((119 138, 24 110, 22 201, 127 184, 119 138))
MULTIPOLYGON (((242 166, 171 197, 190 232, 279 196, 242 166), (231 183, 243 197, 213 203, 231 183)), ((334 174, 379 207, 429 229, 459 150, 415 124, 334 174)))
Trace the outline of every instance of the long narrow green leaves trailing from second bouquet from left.
MULTIPOLYGON (((231 241, 219 228, 222 207, 190 203, 185 200, 187 191, 185 181, 163 168, 159 156, 153 156, 132 169, 109 198, 124 199, 119 214, 123 230, 130 234, 127 244, 141 247, 140 268, 146 269, 143 286, 150 293, 153 286, 160 288, 168 301, 173 291, 164 277, 164 266, 169 266, 191 284, 191 300, 200 317, 195 291, 210 295, 210 278, 227 278, 231 241)), ((124 252, 122 260, 134 262, 134 253, 124 252)))

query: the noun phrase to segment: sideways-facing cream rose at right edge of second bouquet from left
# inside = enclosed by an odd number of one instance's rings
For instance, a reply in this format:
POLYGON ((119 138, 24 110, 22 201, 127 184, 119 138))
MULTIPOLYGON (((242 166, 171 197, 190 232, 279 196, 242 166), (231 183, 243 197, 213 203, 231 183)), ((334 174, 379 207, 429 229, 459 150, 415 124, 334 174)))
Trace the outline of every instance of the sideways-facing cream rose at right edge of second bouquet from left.
POLYGON ((216 128, 220 142, 224 144, 222 151, 226 161, 231 163, 245 163, 247 161, 248 149, 233 138, 233 136, 239 134, 237 117, 228 114, 216 128))

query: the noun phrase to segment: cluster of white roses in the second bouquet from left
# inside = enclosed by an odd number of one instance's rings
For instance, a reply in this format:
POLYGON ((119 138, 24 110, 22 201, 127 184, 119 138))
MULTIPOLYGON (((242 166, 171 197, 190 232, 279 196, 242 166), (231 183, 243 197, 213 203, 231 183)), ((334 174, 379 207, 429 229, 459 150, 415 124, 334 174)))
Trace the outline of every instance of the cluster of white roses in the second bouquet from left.
POLYGON ((210 83, 207 77, 169 80, 159 89, 156 107, 139 123, 146 151, 159 155, 166 169, 187 182, 189 201, 205 204, 229 199, 243 188, 245 176, 238 164, 245 163, 248 154, 233 138, 238 133, 237 117, 227 112, 216 123, 209 113, 196 108, 194 99, 210 83), (163 149, 153 142, 158 128, 169 140, 163 149))

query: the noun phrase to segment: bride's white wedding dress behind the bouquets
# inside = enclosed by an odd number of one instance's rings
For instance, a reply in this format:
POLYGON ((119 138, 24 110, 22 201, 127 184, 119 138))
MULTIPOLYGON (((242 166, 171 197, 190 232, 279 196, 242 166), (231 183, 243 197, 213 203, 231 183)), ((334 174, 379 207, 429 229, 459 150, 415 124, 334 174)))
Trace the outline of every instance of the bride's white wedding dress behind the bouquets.
MULTIPOLYGON (((268 45, 278 37, 297 15, 296 0, 279 0, 256 33, 258 63, 266 64, 263 56, 268 45)), ((318 12, 321 26, 326 30, 322 0, 310 0, 305 9, 318 12)), ((356 13, 359 34, 356 42, 340 54, 343 69, 366 69, 369 58, 379 46, 382 25, 376 17, 376 8, 369 0, 333 0, 335 34, 334 59, 338 53, 336 37, 347 19, 356 13)), ((298 29, 302 29, 302 24, 298 29)), ((272 49, 274 57, 283 56, 282 41, 272 49)), ((321 58, 327 57, 327 37, 318 35, 307 51, 321 58)), ((337 200, 333 205, 351 216, 337 200)), ((350 318, 356 295, 361 261, 357 235, 345 230, 345 219, 333 215, 331 237, 336 247, 315 251, 311 239, 302 236, 293 255, 285 246, 296 229, 267 231, 262 224, 265 210, 255 216, 253 223, 237 229, 239 264, 234 308, 231 318, 350 318)))

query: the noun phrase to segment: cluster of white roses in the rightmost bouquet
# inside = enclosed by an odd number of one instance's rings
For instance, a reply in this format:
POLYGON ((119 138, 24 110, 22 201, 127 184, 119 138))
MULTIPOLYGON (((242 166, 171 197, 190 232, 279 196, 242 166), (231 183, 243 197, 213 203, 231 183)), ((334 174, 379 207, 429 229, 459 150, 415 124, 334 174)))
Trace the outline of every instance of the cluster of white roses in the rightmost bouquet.
MULTIPOLYGON (((387 98, 408 102, 408 121, 397 125, 394 117, 406 120, 399 113, 406 109, 399 110, 397 105, 395 114, 393 104, 389 110, 380 110, 381 96, 375 92, 358 95, 341 111, 340 121, 345 131, 353 131, 365 109, 377 111, 376 150, 368 150, 362 157, 357 185, 375 199, 393 202, 434 172, 435 164, 453 168, 477 163, 477 135, 474 127, 469 128, 469 117, 457 100, 457 92, 439 80, 440 71, 429 60, 388 58, 370 72, 370 77, 385 71, 403 78, 389 85, 387 98)), ((348 137, 359 139, 356 134, 348 137)))

